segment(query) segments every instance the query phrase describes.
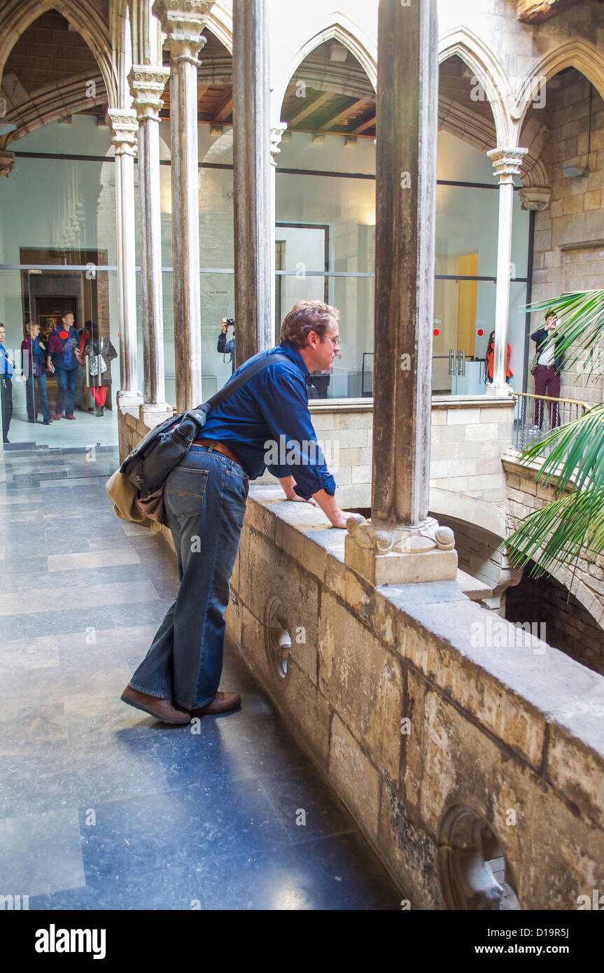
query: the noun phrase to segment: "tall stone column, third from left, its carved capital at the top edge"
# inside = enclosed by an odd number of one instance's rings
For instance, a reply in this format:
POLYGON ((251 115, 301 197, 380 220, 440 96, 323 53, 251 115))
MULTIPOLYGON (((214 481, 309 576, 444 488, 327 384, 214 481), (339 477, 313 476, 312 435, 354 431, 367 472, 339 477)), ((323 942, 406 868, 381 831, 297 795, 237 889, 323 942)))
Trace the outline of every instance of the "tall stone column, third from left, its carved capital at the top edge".
POLYGON ((213 2, 156 0, 170 52, 172 263, 176 408, 191 409, 201 395, 199 294, 199 173, 197 148, 197 54, 213 2))

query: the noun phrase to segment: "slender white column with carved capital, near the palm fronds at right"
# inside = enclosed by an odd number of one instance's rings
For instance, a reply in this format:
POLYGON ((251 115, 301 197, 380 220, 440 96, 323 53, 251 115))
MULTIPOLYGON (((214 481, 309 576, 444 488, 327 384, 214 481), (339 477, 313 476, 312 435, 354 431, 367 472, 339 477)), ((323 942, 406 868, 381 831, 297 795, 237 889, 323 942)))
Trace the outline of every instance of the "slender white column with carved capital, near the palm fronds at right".
POLYGON ((486 386, 488 395, 511 395, 506 381, 508 354, 508 321, 510 317, 510 267, 512 261, 512 214, 514 210, 514 177, 520 174, 527 149, 491 149, 486 155, 499 177, 499 232, 497 235, 497 284, 495 294, 495 355, 493 381, 486 386))

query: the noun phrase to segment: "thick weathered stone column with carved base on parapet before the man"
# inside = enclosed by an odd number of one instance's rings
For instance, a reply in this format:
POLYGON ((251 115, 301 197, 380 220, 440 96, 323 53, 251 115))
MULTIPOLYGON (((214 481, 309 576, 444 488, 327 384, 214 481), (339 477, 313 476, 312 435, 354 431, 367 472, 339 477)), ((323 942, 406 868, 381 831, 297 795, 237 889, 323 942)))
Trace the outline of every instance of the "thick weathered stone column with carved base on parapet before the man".
POLYGON ((428 517, 438 119, 437 0, 380 0, 372 520, 346 563, 375 585, 454 579, 453 532, 428 517))

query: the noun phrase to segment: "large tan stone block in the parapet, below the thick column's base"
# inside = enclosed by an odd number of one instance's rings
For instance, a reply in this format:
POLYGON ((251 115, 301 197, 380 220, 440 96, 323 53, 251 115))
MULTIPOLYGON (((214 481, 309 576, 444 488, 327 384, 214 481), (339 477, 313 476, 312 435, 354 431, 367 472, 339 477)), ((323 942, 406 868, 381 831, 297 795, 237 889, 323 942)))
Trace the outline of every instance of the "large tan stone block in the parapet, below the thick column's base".
POLYGON ((321 601, 319 686, 365 741, 377 767, 399 773, 403 673, 398 660, 333 595, 321 601))

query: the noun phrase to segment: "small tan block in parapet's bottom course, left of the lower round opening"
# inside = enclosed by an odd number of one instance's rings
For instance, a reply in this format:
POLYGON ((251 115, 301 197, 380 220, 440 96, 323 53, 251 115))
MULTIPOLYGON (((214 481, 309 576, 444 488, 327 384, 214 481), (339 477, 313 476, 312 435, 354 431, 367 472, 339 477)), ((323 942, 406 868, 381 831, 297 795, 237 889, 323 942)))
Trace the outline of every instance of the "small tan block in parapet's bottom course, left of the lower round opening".
POLYGON ((332 721, 329 774, 362 830, 377 838, 379 774, 337 715, 332 721))

